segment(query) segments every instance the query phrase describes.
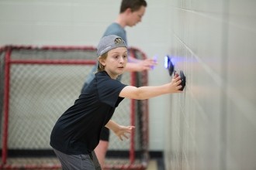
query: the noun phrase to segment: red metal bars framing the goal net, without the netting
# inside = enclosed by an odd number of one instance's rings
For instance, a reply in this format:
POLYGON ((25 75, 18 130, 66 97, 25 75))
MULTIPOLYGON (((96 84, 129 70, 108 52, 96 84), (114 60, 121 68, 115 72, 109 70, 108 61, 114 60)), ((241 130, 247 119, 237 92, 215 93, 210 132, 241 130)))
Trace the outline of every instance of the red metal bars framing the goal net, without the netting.
MULTIPOLYGON (((0 82, 0 87, 2 86, 2 104, 0 109, 2 110, 2 134, 1 134, 1 142, 2 142, 2 162, 0 168, 4 169, 58 169, 61 168, 61 165, 58 163, 43 163, 43 164, 22 164, 15 165, 8 162, 9 159, 9 99, 10 99, 10 68, 13 65, 94 65, 95 59, 12 59, 12 51, 19 49, 39 49, 39 50, 95 50, 92 46, 43 46, 43 47, 35 47, 35 46, 4 46, 0 48, 0 66, 2 77, 0 82), (3 81, 2 81, 3 80, 3 81)), ((131 47, 129 49, 130 56, 139 59, 145 59, 146 55, 137 48, 131 47)), ((141 73, 130 73, 131 76, 131 85, 133 86, 145 86, 147 85, 147 72, 141 73), (138 82, 137 80, 141 81, 138 82)), ((1 77, 0 77, 1 78, 1 77)), ((0 89, 1 90, 1 89, 0 89)), ((135 146, 135 132, 133 132, 130 136, 130 150, 129 150, 129 163, 124 164, 108 164, 106 163, 105 169, 146 169, 147 162, 149 159, 148 156, 148 104, 147 100, 130 101, 130 124, 137 125, 140 124, 140 162, 136 162, 137 159, 137 151, 135 146), (142 124, 136 123, 137 112, 140 112, 140 121, 142 124)))

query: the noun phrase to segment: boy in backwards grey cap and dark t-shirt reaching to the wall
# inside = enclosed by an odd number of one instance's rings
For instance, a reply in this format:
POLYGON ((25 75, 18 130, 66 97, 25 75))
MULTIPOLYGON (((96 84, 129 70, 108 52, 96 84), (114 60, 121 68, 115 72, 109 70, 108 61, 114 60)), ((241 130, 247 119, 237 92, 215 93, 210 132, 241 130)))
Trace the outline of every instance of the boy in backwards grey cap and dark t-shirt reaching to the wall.
POLYGON ((111 121, 124 97, 144 100, 165 93, 178 93, 182 86, 178 74, 170 83, 155 87, 132 87, 116 80, 127 63, 126 43, 119 36, 105 36, 97 46, 98 72, 74 105, 57 120, 50 145, 64 169, 101 169, 94 154, 102 128, 111 129, 122 140, 134 127, 111 121))

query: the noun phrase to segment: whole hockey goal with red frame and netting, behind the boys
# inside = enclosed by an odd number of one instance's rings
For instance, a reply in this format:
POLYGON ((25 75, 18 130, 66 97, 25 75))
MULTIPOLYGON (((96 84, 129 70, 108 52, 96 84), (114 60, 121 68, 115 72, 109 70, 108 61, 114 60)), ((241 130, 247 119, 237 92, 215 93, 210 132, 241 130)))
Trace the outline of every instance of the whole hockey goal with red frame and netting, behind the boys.
MULTIPOLYGON (((140 49, 130 56, 145 59, 140 49)), ((96 62, 90 46, 0 48, 0 142, 4 169, 60 169, 49 145, 57 118, 81 92, 96 62)), ((124 73, 122 82, 147 85, 147 72, 124 73)), ((145 169, 148 162, 147 100, 123 100, 113 121, 135 125, 129 140, 110 134, 104 169, 145 169)))

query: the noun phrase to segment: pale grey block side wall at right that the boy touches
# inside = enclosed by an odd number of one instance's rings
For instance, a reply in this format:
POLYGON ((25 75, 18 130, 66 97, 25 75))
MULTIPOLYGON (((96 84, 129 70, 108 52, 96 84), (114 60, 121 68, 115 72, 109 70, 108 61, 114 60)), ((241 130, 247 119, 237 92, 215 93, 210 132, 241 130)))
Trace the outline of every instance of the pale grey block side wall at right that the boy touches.
POLYGON ((255 7, 170 2, 171 54, 187 87, 171 98, 167 169, 256 169, 255 7))

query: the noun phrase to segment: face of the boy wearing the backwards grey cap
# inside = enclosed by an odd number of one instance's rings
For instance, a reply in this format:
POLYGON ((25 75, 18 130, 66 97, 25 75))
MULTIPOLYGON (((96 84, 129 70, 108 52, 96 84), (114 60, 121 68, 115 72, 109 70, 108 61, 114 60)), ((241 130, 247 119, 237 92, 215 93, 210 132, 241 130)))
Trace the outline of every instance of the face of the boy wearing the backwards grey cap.
POLYGON ((127 49, 126 47, 118 47, 111 49, 108 52, 106 59, 103 59, 103 65, 106 72, 112 79, 116 79, 117 76, 124 72, 127 63, 127 49))

